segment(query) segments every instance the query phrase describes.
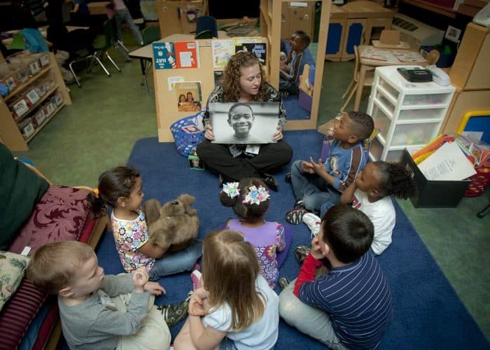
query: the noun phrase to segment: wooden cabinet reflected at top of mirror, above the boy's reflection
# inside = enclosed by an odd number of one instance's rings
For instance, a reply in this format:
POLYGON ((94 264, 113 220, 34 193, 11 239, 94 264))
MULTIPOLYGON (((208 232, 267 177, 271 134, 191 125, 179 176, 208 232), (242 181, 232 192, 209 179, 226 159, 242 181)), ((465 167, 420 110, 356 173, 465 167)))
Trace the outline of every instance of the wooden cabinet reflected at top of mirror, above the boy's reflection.
POLYGON ((314 2, 284 2, 281 7, 281 38, 288 40, 297 30, 313 39, 315 25, 314 2))

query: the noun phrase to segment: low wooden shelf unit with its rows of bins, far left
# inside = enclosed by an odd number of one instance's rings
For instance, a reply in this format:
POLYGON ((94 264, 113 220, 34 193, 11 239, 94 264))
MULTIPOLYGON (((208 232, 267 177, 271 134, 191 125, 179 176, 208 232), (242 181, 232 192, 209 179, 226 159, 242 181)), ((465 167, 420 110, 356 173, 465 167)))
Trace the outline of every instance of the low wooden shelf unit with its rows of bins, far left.
POLYGON ((0 97, 0 139, 10 151, 28 151, 29 141, 71 104, 55 56, 11 57, 10 63, 0 64, 0 80, 10 87, 10 93, 0 97))

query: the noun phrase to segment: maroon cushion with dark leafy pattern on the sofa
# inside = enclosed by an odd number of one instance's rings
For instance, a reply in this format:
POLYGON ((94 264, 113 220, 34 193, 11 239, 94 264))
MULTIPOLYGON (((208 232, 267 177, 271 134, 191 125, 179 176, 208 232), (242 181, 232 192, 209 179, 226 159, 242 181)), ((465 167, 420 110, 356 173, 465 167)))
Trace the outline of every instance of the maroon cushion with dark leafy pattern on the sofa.
POLYGON ((78 240, 90 210, 87 195, 87 190, 51 186, 8 250, 20 253, 25 246, 34 251, 53 241, 78 240))

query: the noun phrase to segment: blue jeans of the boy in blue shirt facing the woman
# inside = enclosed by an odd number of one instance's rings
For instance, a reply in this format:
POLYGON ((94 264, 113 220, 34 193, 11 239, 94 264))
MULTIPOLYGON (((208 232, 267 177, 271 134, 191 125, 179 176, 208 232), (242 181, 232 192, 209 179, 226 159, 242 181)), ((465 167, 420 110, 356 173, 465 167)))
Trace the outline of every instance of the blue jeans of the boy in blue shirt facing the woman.
POLYGON ((328 186, 320 176, 303 172, 302 162, 296 160, 291 166, 291 184, 296 200, 302 200, 306 209, 323 218, 330 207, 340 202, 341 193, 328 186))

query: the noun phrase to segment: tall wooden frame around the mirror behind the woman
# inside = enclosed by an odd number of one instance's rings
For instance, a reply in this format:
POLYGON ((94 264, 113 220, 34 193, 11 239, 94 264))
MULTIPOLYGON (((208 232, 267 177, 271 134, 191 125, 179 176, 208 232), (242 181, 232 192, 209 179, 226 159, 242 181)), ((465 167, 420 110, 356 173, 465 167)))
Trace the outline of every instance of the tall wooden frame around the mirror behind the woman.
MULTIPOLYGON (((267 73, 272 86, 279 88, 279 52, 281 47, 281 10, 286 0, 260 0, 260 36, 269 40, 267 50, 267 73)), ((301 1, 315 3, 314 0, 301 1)), ((315 88, 311 114, 308 120, 288 120, 287 130, 306 130, 316 128, 318 105, 320 102, 321 80, 323 78, 323 64, 325 62, 325 48, 327 45, 328 22, 330 19, 331 0, 321 0, 320 31, 318 32, 318 48, 316 52, 315 88)))

